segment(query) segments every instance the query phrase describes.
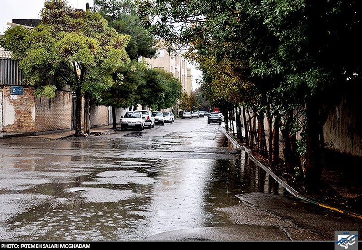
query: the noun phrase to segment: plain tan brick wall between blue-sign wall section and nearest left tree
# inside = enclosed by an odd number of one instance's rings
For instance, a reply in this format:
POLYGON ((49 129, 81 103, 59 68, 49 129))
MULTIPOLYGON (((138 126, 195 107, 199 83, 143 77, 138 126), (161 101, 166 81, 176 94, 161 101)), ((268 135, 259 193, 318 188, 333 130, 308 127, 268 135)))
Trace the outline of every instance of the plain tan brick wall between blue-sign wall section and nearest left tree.
POLYGON ((56 91, 52 99, 35 97, 35 132, 71 128, 71 92, 56 91))

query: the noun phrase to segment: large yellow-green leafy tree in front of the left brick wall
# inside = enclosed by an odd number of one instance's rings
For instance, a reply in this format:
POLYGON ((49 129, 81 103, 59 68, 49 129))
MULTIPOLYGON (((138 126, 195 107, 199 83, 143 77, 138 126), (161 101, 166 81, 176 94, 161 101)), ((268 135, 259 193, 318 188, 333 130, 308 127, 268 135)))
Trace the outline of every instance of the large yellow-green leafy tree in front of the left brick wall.
POLYGON ((71 87, 77 97, 75 136, 82 135, 82 94, 99 99, 112 86, 112 74, 129 62, 130 37, 110 28, 99 13, 73 9, 65 0, 47 0, 41 18, 32 30, 8 29, 1 45, 19 60, 37 95, 51 98, 57 87, 71 87))

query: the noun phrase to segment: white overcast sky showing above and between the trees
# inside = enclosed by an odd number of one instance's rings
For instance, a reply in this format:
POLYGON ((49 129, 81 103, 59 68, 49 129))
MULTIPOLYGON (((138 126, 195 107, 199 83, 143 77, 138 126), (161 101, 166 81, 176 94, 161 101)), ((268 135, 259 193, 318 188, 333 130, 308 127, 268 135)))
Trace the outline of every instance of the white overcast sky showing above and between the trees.
MULTIPOLYGON (((8 22, 12 19, 40 19, 40 11, 44 7, 45 0, 0 0, 0 34, 7 30, 8 22)), ((76 9, 85 9, 86 3, 93 7, 94 0, 68 0, 68 3, 76 9)), ((194 65, 189 64, 193 76, 192 89, 199 86, 196 79, 201 77, 201 71, 197 70, 194 65)))

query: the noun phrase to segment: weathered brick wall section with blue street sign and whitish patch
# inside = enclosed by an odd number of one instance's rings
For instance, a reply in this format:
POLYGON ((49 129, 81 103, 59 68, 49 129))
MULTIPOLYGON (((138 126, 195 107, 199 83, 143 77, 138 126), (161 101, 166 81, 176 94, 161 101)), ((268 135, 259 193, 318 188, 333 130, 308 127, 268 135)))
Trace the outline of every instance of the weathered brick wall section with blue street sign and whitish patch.
POLYGON ((34 88, 23 87, 23 95, 11 95, 10 86, 4 86, 3 132, 32 133, 35 128, 34 88))

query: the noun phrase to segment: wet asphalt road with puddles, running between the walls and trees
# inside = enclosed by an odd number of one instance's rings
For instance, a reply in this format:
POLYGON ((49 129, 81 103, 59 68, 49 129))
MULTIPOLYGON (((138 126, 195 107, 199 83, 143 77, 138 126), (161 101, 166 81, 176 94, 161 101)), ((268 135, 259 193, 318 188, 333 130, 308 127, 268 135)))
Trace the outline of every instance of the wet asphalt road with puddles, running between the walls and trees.
MULTIPOLYGON (((295 200, 207 118, 0 139, 0 241, 334 240, 360 219, 295 200)), ((361 238, 361 236, 360 236, 361 238)))

